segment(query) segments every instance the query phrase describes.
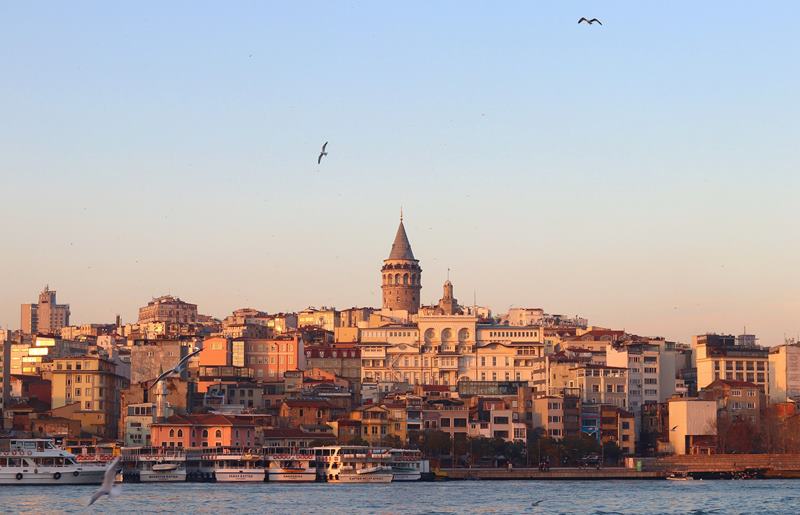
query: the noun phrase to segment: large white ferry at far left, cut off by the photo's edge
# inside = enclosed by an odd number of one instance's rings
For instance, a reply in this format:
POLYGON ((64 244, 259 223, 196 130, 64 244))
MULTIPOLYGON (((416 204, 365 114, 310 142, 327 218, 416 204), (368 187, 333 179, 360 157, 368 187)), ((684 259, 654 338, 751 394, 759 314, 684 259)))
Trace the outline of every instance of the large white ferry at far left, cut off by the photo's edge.
POLYGON ((99 485, 104 474, 104 466, 78 463, 52 440, 0 441, 0 485, 99 485))

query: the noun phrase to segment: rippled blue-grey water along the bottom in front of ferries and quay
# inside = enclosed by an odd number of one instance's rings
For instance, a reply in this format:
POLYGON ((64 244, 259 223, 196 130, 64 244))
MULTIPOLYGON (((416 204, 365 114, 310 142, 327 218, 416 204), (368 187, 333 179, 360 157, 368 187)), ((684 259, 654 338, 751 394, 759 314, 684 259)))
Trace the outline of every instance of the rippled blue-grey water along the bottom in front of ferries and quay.
POLYGON ((0 486, 2 513, 800 513, 800 481, 453 481, 388 485, 0 486), (538 503, 538 504, 536 504, 538 503))

